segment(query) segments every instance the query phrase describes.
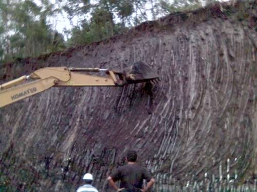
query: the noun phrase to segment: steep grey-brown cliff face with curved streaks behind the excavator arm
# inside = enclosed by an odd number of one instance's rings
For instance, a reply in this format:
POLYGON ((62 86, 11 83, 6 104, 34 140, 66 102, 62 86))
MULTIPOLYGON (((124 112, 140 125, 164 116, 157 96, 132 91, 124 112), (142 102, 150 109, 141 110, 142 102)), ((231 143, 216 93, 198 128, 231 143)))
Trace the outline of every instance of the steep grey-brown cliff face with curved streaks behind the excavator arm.
MULTIPOLYGON (((213 5, 146 22, 91 45, 1 66, 1 82, 41 67, 123 70, 142 60, 161 81, 123 88, 52 88, 0 109, 1 185, 71 191, 86 172, 106 176, 128 148, 155 191, 256 161, 256 3, 213 5), (255 145, 254 145, 255 143, 255 145), (172 179, 174 178, 174 179, 172 179)), ((251 169, 251 172, 249 172, 251 169)))

